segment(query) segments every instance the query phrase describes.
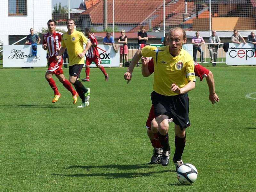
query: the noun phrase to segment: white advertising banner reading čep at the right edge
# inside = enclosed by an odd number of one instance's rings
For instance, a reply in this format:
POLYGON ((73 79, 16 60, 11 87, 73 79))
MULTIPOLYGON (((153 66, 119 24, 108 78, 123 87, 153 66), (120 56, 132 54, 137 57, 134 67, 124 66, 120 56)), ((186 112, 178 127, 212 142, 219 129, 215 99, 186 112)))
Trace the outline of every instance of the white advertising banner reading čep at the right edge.
POLYGON ((254 44, 250 43, 229 43, 226 52, 227 65, 254 65, 256 64, 256 50, 254 44))

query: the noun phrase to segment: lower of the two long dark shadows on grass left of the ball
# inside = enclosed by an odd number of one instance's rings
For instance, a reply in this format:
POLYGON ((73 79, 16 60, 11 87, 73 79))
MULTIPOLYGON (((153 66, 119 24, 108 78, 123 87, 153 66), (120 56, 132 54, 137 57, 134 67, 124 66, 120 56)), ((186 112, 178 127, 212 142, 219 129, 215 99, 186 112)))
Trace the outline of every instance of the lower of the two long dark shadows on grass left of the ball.
POLYGON ((145 173, 138 173, 138 172, 130 172, 130 173, 88 173, 88 174, 57 174, 53 173, 52 176, 64 176, 64 177, 106 177, 107 179, 118 179, 118 178, 126 178, 132 179, 136 177, 145 177, 150 176, 157 173, 164 173, 170 172, 169 170, 164 171, 156 171, 156 172, 145 172, 145 173))

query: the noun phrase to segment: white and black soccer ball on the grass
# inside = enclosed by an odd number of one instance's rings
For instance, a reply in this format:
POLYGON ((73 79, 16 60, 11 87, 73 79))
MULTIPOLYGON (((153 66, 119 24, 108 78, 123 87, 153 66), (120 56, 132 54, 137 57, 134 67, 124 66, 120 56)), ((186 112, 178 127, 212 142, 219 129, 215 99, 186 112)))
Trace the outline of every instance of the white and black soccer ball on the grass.
POLYGON ((183 164, 178 168, 176 176, 181 184, 190 185, 197 179, 196 167, 189 163, 183 164))

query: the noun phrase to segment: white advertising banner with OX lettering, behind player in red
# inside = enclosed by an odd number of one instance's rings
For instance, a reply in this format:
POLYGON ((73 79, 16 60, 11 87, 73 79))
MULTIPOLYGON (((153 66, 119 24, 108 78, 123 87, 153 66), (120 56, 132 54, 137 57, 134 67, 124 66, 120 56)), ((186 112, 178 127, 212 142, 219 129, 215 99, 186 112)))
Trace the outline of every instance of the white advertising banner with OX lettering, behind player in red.
MULTIPOLYGON (((113 49, 112 45, 98 45, 98 51, 100 54, 101 65, 103 67, 119 67, 119 60, 120 60, 119 49, 118 49, 118 52, 116 52, 113 49)), ((84 59, 86 60, 86 58, 84 59)), ((96 67, 95 63, 92 62, 90 67, 96 67)))

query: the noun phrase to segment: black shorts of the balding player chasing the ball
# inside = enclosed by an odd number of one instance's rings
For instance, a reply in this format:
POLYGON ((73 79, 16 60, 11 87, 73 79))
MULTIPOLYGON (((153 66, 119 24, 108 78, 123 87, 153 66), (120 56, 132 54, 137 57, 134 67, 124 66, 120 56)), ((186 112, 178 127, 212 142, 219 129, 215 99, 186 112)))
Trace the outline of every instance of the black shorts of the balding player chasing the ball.
POLYGON ((180 125, 180 129, 187 128, 190 125, 188 118, 189 100, 188 94, 179 94, 175 96, 165 96, 153 91, 151 93, 151 101, 154 106, 155 116, 167 115, 173 118, 176 125, 180 125))

